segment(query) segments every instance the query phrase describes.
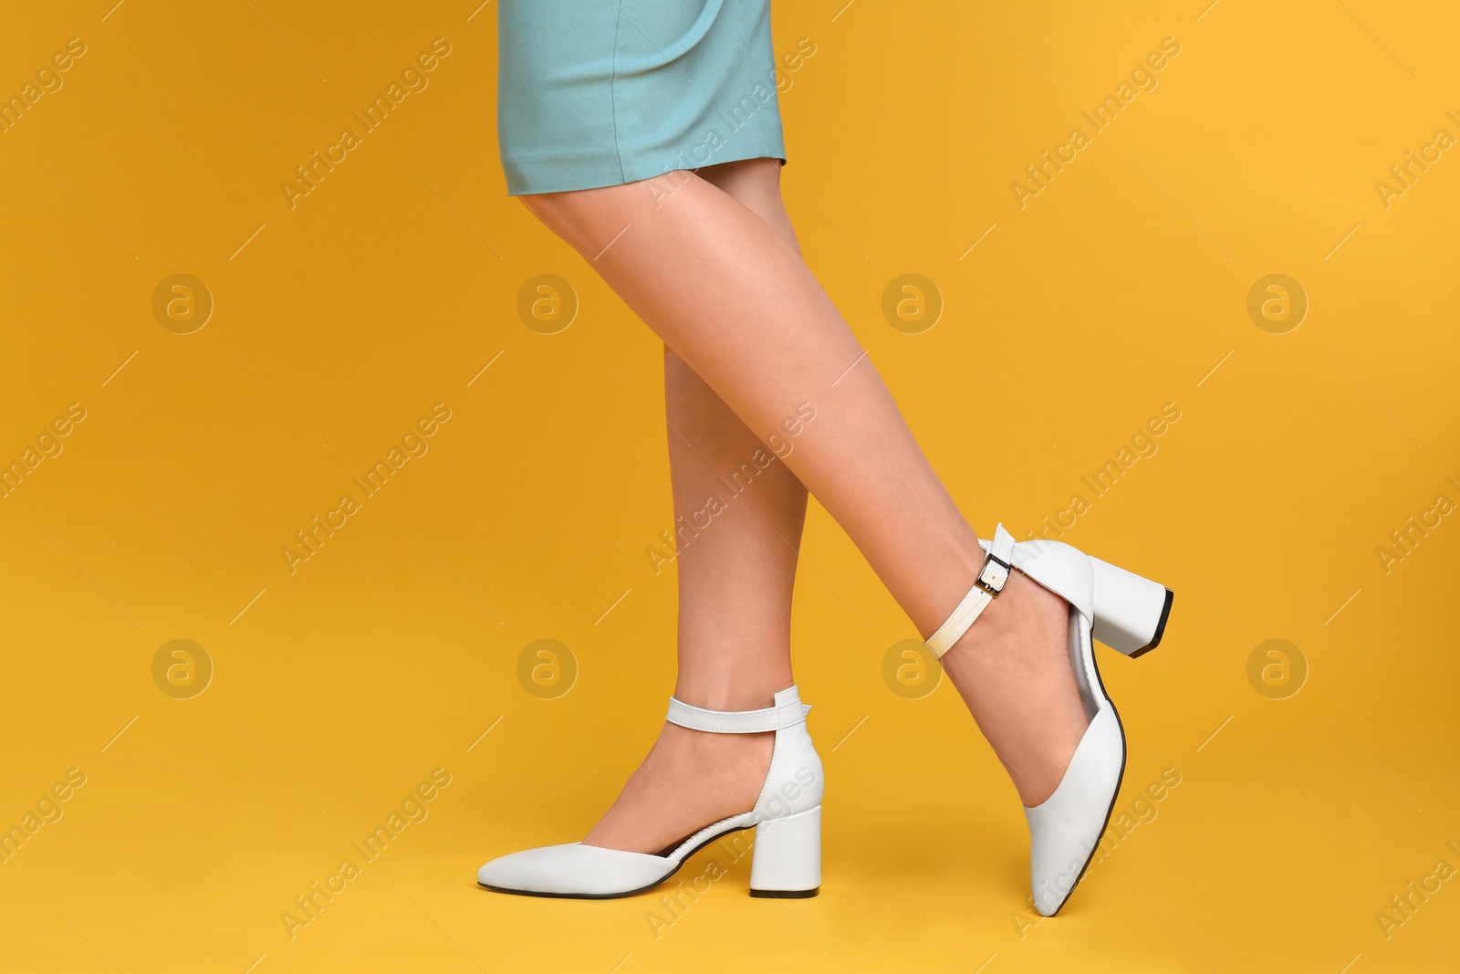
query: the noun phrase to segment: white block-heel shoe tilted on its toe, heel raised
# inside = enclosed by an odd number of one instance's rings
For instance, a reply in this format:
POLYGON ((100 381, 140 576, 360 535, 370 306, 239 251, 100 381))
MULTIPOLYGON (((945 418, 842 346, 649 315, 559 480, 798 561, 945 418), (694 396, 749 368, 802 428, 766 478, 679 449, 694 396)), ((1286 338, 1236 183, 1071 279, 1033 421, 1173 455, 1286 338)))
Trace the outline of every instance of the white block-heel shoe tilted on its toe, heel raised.
POLYGON ((991 542, 980 545, 988 559, 948 622, 929 637, 934 657, 968 631, 1013 568, 1070 603, 1070 664, 1091 723, 1054 793, 1034 808, 1023 806, 1034 905, 1053 917, 1085 875, 1126 772, 1126 730, 1101 683, 1094 640, 1129 657, 1149 653, 1165 632, 1172 593, 1063 542, 1015 542, 1003 524, 991 542))

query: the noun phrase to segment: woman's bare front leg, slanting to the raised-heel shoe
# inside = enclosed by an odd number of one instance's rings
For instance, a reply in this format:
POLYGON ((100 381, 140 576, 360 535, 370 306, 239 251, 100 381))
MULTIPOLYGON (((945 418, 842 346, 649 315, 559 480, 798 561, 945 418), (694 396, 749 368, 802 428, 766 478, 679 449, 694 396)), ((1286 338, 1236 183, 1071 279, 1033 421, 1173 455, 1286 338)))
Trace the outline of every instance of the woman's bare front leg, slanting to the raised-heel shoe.
MULTIPOLYGON (((764 165, 777 166, 766 161, 764 165)), ((765 219, 691 172, 521 197, 724 399, 784 435, 785 466, 841 523, 927 637, 972 586, 983 551, 831 299, 765 219)), ((969 448, 977 423, 969 418, 969 448)), ((1015 572, 945 657, 1026 805, 1053 791, 1088 723, 1067 610, 1015 572)))

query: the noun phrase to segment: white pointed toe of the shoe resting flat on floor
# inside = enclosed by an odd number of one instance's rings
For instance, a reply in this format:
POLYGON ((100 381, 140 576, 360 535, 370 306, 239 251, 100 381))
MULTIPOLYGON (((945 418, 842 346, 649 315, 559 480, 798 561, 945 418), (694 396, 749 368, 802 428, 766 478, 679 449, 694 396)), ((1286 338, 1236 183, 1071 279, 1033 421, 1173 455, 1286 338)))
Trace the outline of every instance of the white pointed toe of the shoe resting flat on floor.
POLYGON ((493 859, 476 870, 476 882, 496 892, 622 897, 653 886, 677 866, 663 856, 568 843, 493 859))

